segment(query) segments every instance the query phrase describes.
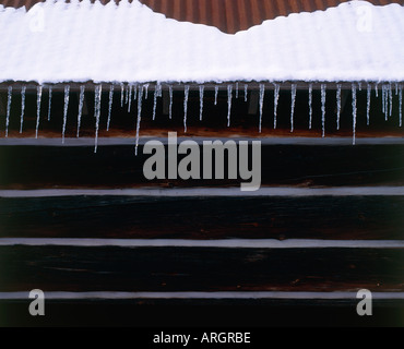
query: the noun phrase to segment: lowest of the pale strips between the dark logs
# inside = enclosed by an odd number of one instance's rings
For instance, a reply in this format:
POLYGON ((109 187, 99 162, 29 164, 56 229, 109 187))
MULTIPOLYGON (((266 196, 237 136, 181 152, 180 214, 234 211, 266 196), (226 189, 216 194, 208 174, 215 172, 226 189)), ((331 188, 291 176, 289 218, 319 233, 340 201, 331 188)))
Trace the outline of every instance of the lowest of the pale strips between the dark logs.
MULTIPOLYGON (((45 292, 45 300, 131 300, 131 299, 285 299, 285 300, 357 300, 357 292, 45 292)), ((372 292, 373 300, 403 300, 404 292, 372 292)), ((0 292, 0 300, 29 300, 29 292, 0 292)))

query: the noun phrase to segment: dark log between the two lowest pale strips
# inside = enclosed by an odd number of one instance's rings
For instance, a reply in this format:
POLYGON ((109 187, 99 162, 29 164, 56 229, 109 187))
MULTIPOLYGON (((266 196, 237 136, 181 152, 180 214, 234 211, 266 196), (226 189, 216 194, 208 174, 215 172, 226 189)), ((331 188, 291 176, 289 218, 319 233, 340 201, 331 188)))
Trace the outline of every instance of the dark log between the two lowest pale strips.
POLYGON ((0 291, 404 290, 404 250, 0 246, 0 291))

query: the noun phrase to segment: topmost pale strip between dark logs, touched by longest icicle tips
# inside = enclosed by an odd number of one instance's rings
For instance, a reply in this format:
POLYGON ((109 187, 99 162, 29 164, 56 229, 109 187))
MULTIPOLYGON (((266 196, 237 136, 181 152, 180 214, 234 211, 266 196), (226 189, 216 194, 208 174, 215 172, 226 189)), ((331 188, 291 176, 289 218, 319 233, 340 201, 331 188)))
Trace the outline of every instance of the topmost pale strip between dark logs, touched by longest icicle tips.
MULTIPOLYGON (((146 131, 145 131, 146 132, 146 131)), ((177 137, 177 142, 181 143, 183 141, 194 141, 198 144, 203 144, 204 141, 222 141, 226 143, 228 140, 235 142, 240 141, 260 141, 262 145, 348 145, 352 146, 352 137, 241 137, 239 135, 228 136, 228 137, 177 137)), ((163 144, 167 144, 167 137, 152 137, 152 136, 141 136, 139 139, 139 144, 144 145, 148 141, 158 141, 163 144)), ((99 137, 99 146, 108 145, 133 145, 135 144, 134 137, 99 137)), ((356 139, 356 145, 380 145, 380 144, 404 144, 404 137, 364 137, 356 139)), ((64 139, 64 144, 62 144, 61 139, 38 139, 35 137, 8 137, 0 139, 0 146, 12 146, 12 145, 28 145, 28 146, 94 146, 94 139, 91 137, 74 137, 64 139)))

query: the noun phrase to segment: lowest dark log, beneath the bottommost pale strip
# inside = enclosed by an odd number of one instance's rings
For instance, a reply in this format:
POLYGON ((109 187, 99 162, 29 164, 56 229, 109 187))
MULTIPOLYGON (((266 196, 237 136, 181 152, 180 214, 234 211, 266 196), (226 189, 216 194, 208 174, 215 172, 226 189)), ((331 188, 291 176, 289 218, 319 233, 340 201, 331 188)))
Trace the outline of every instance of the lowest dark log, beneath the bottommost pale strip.
MULTIPOLYGON (((308 326, 402 327, 404 325, 404 303, 401 301, 373 300, 372 316, 357 315, 356 306, 359 300, 337 302, 323 300, 316 302, 306 300, 46 300, 45 316, 29 315, 31 301, 0 300, 0 313, 4 314, 0 317, 0 326, 130 326, 117 332, 119 338, 126 338, 128 342, 135 338, 136 345, 144 340, 144 347, 147 348, 151 338, 162 330, 169 334, 192 333, 194 337, 200 338, 204 332, 229 332, 233 326, 243 326, 242 330, 250 332, 254 342, 262 344, 269 340, 268 327, 270 326, 286 328, 299 326, 304 327, 304 330, 299 333, 296 341, 298 344, 302 338, 300 334, 307 334, 306 338, 310 339, 312 332, 307 332, 308 326)), ((233 330, 239 329, 241 328, 233 330)), ((90 330, 90 334, 96 334, 98 339, 104 337, 103 333, 105 330, 96 333, 90 330)), ((270 333, 273 338, 274 332, 270 333)), ((276 329, 276 333, 281 334, 280 339, 284 338, 285 332, 280 333, 276 329)), ((346 340, 345 337, 344 340, 346 340)))

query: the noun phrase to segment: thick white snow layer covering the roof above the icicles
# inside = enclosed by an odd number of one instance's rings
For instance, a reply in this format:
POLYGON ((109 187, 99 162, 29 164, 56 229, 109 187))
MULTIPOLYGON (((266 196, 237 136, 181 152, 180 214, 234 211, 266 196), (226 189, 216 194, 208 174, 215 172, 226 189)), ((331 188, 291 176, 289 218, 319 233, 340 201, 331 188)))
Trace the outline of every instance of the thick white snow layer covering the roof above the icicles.
POLYGON ((0 82, 404 81, 404 7, 350 1, 235 35, 138 0, 0 5, 0 82))

